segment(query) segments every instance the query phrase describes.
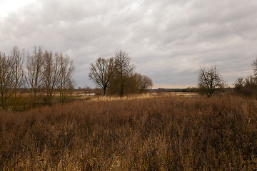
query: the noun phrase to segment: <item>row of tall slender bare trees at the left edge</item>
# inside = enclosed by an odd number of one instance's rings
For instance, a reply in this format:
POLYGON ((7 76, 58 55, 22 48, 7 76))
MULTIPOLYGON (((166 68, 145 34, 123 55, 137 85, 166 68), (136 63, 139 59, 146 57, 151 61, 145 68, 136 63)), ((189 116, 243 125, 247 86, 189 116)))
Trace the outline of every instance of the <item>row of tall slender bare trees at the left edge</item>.
POLYGON ((63 103, 66 91, 72 87, 73 72, 73 61, 63 53, 35 47, 34 51, 25 54, 17 46, 9 55, 0 52, 1 108, 6 109, 11 100, 15 102, 21 89, 29 90, 34 103, 39 90, 44 90, 47 104, 51 104, 54 93, 59 91, 59 100, 63 103))

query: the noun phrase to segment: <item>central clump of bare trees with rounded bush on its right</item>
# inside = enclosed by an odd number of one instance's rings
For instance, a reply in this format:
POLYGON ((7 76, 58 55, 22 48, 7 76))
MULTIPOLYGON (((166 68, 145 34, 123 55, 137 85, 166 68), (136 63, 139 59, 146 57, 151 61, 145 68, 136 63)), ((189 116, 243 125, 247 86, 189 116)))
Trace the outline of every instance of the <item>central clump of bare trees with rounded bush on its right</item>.
POLYGON ((123 96, 127 93, 144 93, 153 86, 151 78, 135 73, 136 66, 131 63, 129 54, 125 51, 115 53, 111 58, 98 58, 91 63, 89 78, 96 86, 109 94, 123 96))

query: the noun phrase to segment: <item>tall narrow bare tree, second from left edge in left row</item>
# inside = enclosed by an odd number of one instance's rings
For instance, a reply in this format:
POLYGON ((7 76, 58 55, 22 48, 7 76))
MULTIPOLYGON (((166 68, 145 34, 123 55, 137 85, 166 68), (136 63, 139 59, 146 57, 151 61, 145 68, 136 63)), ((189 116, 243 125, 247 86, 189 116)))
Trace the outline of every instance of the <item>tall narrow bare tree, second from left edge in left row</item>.
POLYGON ((24 57, 17 46, 14 46, 11 51, 11 60, 14 71, 14 98, 16 98, 17 91, 19 90, 19 88, 21 88, 21 86, 24 86, 24 57))

